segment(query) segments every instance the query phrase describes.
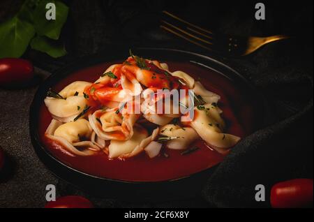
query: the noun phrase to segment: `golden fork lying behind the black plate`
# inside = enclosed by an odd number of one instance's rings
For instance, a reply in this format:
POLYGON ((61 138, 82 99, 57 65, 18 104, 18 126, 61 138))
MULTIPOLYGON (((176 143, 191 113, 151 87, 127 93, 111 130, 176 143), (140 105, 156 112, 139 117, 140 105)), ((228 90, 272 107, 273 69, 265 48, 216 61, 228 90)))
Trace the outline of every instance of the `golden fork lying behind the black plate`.
POLYGON ((182 20, 167 11, 163 11, 163 20, 161 20, 160 28, 206 50, 232 56, 251 54, 263 45, 290 38, 284 35, 241 37, 214 34, 212 31, 182 20))

